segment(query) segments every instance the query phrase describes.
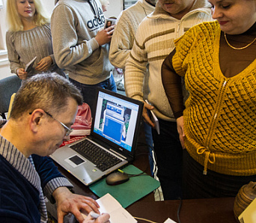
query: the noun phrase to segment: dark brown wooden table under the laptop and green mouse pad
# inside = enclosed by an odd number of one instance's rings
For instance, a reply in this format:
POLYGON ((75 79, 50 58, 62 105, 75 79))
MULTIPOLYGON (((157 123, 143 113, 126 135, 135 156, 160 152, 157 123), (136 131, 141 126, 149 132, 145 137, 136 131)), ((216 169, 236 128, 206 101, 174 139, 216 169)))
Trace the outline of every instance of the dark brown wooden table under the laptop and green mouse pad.
MULTIPOLYGON (((136 151, 135 161, 132 163, 142 171, 150 174, 150 167, 147 156, 147 147, 144 146, 144 138, 139 137, 139 143, 136 151)), ((85 186, 76 177, 73 177, 64 168, 56 164, 73 183, 74 191, 76 194, 85 195, 97 199, 88 186, 85 186)), ((195 199, 182 201, 180 209, 180 222, 181 223, 237 223, 233 213, 234 198, 211 198, 211 199, 195 199)), ((180 201, 154 201, 153 192, 149 195, 136 201, 127 207, 132 216, 149 219, 153 222, 162 223, 170 218, 178 222, 177 212, 180 207, 180 201)), ((47 210, 52 216, 56 217, 55 206, 47 204, 47 210)), ((138 222, 144 222, 138 220, 138 222)), ((121 222, 122 223, 122 222, 121 222)))

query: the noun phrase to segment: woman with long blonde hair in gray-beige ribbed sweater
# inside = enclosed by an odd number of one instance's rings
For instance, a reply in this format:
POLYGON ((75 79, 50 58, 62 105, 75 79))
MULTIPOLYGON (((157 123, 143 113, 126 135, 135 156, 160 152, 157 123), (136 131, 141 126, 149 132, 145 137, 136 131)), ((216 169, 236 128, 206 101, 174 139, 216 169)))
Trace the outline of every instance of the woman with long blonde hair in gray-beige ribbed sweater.
POLYGON ((52 51, 52 36, 49 15, 40 0, 7 0, 6 33, 8 58, 11 73, 26 79, 36 73, 55 71, 64 76, 55 64, 52 51), (34 57, 31 71, 25 72, 25 64, 34 57))

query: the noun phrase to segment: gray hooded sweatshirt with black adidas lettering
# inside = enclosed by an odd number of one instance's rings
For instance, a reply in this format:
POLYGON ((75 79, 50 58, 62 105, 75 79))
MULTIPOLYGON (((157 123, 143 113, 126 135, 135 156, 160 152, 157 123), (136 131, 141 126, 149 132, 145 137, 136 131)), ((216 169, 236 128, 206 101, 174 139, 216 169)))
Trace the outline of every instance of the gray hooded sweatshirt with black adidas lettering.
POLYGON ((109 79, 109 43, 99 46, 95 36, 105 16, 98 0, 60 0, 51 19, 55 60, 71 79, 95 85, 109 79), (88 1, 91 1, 91 5, 88 1))

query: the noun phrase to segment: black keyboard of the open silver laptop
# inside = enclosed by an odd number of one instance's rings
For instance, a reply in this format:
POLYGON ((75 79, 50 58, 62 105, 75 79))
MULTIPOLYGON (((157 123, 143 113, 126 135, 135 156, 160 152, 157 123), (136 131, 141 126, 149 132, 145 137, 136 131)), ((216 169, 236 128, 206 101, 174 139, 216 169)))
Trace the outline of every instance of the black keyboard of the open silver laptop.
POLYGON ((88 140, 80 141, 70 148, 94 163, 100 171, 106 171, 122 161, 121 159, 118 159, 118 157, 113 156, 111 153, 106 152, 106 150, 103 150, 103 148, 98 147, 96 144, 88 140))

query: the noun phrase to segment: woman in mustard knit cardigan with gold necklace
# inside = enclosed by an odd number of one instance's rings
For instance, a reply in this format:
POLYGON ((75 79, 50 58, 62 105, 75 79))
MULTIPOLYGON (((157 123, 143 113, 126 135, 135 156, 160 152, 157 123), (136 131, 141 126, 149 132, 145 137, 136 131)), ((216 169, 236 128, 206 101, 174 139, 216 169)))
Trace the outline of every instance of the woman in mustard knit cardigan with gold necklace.
POLYGON ((256 1, 209 2, 216 21, 189 29, 162 64, 186 149, 184 198, 235 196, 256 181, 256 1))

